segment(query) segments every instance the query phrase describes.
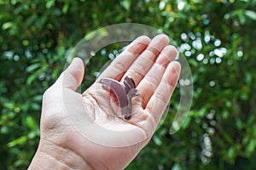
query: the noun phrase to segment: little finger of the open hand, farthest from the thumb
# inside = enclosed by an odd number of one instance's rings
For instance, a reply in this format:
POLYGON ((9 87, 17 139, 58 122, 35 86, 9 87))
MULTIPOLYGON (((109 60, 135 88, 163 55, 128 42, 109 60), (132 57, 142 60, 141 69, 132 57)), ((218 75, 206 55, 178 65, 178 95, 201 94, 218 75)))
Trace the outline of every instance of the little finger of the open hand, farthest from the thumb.
POLYGON ((171 99, 174 88, 177 85, 177 80, 181 71, 181 65, 177 61, 172 61, 165 71, 160 85, 154 91, 154 94, 148 101, 146 110, 154 116, 154 120, 159 122, 160 117, 166 110, 169 100, 171 99))

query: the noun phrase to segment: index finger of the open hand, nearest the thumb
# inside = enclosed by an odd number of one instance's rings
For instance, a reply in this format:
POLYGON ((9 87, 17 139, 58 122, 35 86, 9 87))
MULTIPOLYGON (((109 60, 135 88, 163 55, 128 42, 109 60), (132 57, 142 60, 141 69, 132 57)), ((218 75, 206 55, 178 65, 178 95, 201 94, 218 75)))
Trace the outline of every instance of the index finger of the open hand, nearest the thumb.
POLYGON ((119 56, 113 60, 108 68, 102 72, 102 75, 98 78, 114 78, 120 80, 125 74, 125 71, 130 67, 137 56, 139 56, 145 48, 148 47, 150 38, 146 36, 137 37, 131 44, 125 48, 119 56))

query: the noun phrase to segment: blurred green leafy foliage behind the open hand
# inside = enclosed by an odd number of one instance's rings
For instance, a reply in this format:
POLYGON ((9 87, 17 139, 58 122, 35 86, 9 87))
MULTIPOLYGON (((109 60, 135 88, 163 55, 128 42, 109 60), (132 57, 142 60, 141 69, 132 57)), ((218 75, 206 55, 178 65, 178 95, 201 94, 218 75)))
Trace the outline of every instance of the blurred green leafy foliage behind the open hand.
MULTIPOLYGON (((39 141, 42 94, 86 34, 117 23, 165 32, 186 57, 194 99, 171 135, 165 122, 126 169, 256 169, 255 0, 0 0, 0 169, 26 169, 39 141)), ((122 44, 124 45, 124 44, 122 44)), ((119 44, 86 66, 90 86, 119 44)))

